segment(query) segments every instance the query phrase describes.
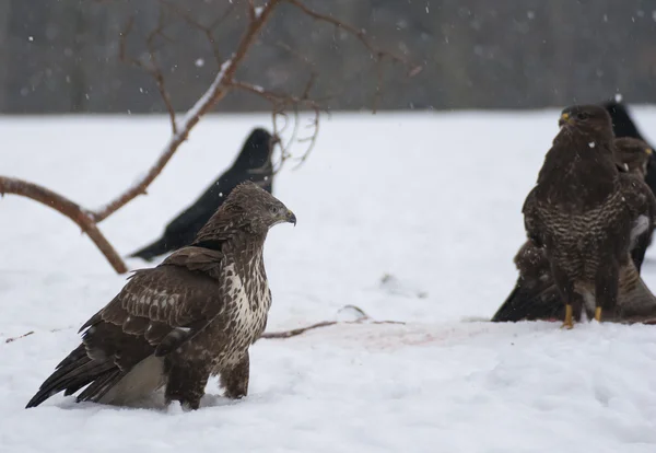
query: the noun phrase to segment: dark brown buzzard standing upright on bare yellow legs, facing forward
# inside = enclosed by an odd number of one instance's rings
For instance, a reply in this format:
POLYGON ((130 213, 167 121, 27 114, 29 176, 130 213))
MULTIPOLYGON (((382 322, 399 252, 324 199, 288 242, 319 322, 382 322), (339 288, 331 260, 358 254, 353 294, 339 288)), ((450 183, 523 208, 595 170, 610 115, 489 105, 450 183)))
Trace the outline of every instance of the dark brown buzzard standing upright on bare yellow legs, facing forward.
POLYGON ((523 212, 529 240, 550 263, 571 328, 584 305, 597 321, 604 309, 608 317, 617 314, 620 275, 629 266, 637 276, 632 242, 649 228, 656 208, 647 187, 619 171, 604 107, 567 107, 559 125, 523 212))

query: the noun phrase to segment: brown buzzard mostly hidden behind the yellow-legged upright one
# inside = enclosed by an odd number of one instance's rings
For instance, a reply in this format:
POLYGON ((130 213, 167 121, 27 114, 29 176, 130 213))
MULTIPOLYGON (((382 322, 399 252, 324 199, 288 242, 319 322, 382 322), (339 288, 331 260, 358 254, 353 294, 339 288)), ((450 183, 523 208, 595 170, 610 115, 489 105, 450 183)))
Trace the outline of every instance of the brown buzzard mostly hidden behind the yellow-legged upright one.
MULTIPOLYGON (((620 169, 632 174, 636 184, 644 184, 644 174, 651 149, 641 140, 620 138, 614 140, 616 161, 620 169)), ((652 216, 649 228, 640 234, 631 246, 631 257, 640 272, 654 229, 652 216)), ((527 241, 515 256, 515 266, 519 271, 515 288, 499 307, 492 322, 517 322, 535 320, 563 318, 564 305, 551 277, 551 265, 544 251, 527 241)), ((656 298, 642 279, 629 269, 620 275, 618 305, 624 317, 656 316, 656 298)))

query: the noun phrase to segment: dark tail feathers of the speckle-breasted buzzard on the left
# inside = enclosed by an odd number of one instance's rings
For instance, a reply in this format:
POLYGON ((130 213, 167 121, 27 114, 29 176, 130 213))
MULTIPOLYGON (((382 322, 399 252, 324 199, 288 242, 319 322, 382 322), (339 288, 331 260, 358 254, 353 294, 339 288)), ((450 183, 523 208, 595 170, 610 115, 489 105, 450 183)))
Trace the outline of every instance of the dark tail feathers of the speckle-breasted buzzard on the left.
POLYGON ((59 392, 70 395, 116 369, 112 361, 92 360, 85 352, 81 356, 81 348, 84 351, 84 346, 81 345, 60 363, 60 367, 40 385, 25 408, 36 407, 59 392))

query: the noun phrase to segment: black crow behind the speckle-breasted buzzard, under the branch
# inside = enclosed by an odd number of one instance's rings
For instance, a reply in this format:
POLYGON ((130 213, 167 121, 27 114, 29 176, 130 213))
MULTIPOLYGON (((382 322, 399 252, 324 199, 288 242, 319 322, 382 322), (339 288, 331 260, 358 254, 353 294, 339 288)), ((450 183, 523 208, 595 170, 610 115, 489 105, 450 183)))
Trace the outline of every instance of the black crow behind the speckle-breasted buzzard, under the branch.
POLYGON ((167 252, 189 245, 230 193, 245 181, 257 183, 271 194, 273 184, 271 150, 277 142, 278 139, 265 129, 253 130, 233 165, 213 182, 194 205, 166 225, 162 237, 132 253, 130 257, 140 257, 150 262, 167 252))

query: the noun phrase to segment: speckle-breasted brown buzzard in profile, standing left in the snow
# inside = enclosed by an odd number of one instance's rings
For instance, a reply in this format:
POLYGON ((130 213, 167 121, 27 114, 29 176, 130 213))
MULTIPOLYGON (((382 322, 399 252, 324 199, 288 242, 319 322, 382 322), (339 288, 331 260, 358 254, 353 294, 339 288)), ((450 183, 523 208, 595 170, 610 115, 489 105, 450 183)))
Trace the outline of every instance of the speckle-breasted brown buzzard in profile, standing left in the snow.
POLYGON ((248 347, 271 305, 262 248, 269 229, 296 224, 254 183, 238 185, 196 236, 152 269, 137 270, 80 329, 82 344, 27 403, 65 392, 78 402, 126 405, 164 387, 166 403, 197 409, 210 375, 225 395, 247 394, 248 347))

